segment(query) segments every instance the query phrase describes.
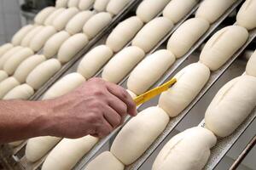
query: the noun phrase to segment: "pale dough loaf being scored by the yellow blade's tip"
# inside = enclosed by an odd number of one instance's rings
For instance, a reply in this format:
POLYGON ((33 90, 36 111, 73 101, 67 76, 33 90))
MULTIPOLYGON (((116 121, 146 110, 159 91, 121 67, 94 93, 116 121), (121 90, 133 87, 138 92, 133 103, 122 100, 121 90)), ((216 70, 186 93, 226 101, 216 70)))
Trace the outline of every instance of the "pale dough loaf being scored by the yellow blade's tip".
POLYGON ((210 71, 206 65, 194 63, 183 68, 175 77, 177 82, 162 93, 159 100, 160 108, 171 117, 177 116, 195 99, 207 83, 210 71))

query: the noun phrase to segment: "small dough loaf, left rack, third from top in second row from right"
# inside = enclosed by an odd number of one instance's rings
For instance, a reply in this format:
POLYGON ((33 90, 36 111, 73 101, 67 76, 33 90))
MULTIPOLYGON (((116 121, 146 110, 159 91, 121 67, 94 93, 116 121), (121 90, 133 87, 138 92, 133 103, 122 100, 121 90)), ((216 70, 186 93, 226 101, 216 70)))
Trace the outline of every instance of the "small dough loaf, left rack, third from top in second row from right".
POLYGON ((67 31, 60 31, 55 33, 52 37, 49 37, 47 42, 44 44, 43 48, 43 54, 47 59, 50 59, 55 56, 55 54, 58 53, 59 48, 61 48, 61 45, 63 42, 69 38, 70 35, 67 31))

